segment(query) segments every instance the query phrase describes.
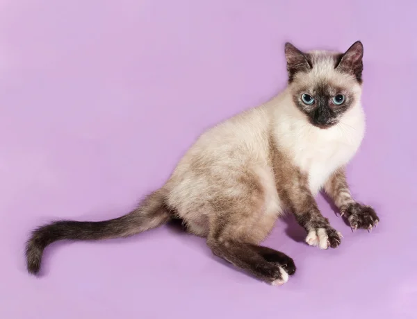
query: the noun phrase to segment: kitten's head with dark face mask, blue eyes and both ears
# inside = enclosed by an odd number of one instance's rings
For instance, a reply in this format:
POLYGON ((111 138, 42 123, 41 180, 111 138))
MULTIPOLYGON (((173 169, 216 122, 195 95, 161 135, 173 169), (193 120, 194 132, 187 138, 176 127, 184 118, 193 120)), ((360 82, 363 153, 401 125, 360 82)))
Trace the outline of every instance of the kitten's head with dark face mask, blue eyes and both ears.
POLYGON ((304 53, 285 44, 288 88, 295 106, 313 126, 329 128, 359 103, 362 84, 363 45, 357 41, 345 53, 304 53))

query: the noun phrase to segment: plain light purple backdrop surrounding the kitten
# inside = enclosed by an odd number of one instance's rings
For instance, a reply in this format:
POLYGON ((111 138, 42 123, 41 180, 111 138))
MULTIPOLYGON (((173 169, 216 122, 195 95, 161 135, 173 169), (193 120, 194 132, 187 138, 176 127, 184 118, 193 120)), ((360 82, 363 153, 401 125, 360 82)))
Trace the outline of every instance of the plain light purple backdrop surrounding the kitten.
POLYGON ((314 3, 0 1, 0 318, 417 318, 417 3, 314 3), (267 244, 298 268, 281 287, 170 227, 57 243, 26 274, 33 227, 124 214, 204 129, 279 92, 285 41, 358 39, 368 130, 348 172, 381 218, 371 234, 319 198, 343 243, 311 248, 279 223, 267 244))

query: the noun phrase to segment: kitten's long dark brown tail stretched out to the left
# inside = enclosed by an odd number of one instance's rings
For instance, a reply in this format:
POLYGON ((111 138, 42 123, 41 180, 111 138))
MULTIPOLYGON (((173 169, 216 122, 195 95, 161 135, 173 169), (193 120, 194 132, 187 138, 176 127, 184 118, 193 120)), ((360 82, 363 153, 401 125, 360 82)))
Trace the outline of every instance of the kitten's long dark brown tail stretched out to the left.
POLYGON ((37 275, 42 253, 47 245, 63 239, 94 241, 131 236, 170 221, 172 215, 165 206, 163 189, 147 196, 140 206, 119 218, 108 221, 56 221, 35 229, 26 243, 26 267, 37 275))

